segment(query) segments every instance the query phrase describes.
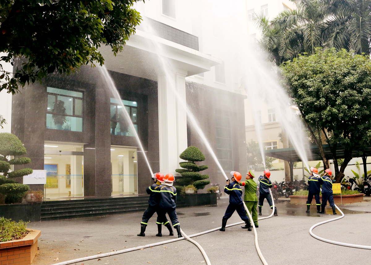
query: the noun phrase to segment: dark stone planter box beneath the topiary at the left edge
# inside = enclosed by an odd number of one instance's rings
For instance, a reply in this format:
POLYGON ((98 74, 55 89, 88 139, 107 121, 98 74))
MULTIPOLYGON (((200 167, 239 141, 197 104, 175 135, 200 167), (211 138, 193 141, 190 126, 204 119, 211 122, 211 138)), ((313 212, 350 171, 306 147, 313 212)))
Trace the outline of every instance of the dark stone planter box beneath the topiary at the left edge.
POLYGON ((37 222, 41 218, 41 202, 0 205, 0 217, 13 221, 37 222))

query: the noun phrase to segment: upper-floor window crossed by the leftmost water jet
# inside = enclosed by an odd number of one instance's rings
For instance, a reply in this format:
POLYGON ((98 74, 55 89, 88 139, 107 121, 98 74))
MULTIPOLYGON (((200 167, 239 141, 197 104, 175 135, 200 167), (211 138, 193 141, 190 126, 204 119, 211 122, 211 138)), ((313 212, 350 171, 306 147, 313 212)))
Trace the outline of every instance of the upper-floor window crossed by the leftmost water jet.
POLYGON ((127 116, 122 105, 124 105, 129 117, 131 117, 131 122, 134 125, 135 131, 138 133, 138 102, 122 100, 120 103, 118 99, 111 98, 111 134, 135 136, 127 121, 127 116))

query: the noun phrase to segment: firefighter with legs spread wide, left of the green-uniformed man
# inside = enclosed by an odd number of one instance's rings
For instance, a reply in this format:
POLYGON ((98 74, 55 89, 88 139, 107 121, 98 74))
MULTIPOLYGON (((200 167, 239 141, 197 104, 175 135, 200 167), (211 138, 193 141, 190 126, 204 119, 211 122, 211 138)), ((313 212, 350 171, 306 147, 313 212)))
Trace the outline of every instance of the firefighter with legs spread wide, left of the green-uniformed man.
POLYGON ((224 192, 229 194, 229 205, 227 207, 226 213, 223 216, 223 219, 221 221, 221 228, 219 230, 226 230, 227 220, 233 215, 234 211, 237 211, 238 215, 246 223, 247 230, 251 231, 250 219, 246 216, 246 211, 243 207, 242 189, 239 185, 242 176, 237 171, 232 171, 231 175, 233 176, 232 183, 229 183, 229 180, 227 180, 227 186, 224 187, 224 192))

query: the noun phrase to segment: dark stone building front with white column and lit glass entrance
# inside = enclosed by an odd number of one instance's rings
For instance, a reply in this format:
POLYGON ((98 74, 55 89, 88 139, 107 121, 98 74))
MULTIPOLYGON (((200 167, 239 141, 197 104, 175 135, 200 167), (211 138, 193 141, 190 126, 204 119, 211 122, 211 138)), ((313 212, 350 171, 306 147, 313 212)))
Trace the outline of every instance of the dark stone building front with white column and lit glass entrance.
POLYGON ((88 66, 75 75, 53 73, 12 96, 6 119, 32 160, 27 167, 47 172, 46 184, 32 188, 49 199, 142 194, 152 183, 144 156, 154 172, 176 174, 189 145, 203 151, 205 173, 220 183, 222 173, 187 120, 184 102, 224 171, 246 169, 245 96, 234 87, 228 53, 211 52, 218 48, 210 25, 196 26, 204 19, 196 3, 138 3, 144 22, 123 52, 115 57, 108 47, 100 49, 119 97, 104 71, 88 66), (171 65, 167 71, 164 61, 171 65))

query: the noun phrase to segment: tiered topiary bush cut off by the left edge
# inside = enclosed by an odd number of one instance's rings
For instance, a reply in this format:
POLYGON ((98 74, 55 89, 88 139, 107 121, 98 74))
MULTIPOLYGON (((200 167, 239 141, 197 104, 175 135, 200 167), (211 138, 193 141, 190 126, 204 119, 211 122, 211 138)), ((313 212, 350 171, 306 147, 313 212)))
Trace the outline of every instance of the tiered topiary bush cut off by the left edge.
POLYGON ((10 171, 10 166, 28 164, 31 159, 28 157, 8 159, 9 156, 22 156, 26 152, 26 148, 16 135, 0 133, 0 173, 3 173, 0 177, 0 204, 22 202, 24 193, 29 190, 29 186, 14 183, 10 178, 31 174, 32 169, 10 171))

